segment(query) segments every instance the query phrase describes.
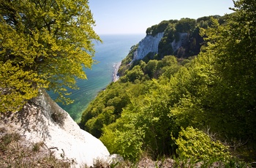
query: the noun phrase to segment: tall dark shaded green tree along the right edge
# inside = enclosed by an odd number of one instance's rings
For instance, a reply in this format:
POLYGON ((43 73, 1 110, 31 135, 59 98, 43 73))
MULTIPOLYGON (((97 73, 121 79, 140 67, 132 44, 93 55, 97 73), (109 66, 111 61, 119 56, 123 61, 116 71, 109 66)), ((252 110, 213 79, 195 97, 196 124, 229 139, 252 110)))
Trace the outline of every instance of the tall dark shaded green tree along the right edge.
POLYGON ((255 3, 237 1, 236 12, 221 26, 212 20, 202 31, 208 38, 206 55, 216 58, 218 85, 211 89, 215 127, 235 139, 255 139, 255 3), (236 102, 236 103, 235 103, 236 102), (217 124, 218 123, 218 124, 217 124), (221 126, 219 123, 222 123, 221 126))

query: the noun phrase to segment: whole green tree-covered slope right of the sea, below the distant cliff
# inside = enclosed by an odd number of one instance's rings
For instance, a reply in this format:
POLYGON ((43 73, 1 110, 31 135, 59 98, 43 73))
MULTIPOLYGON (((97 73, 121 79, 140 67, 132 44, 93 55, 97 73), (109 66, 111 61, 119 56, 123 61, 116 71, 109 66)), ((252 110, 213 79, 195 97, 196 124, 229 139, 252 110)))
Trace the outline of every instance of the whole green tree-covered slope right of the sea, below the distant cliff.
POLYGON ((148 28, 147 34, 165 30, 167 37, 167 30, 184 23, 180 31, 200 31, 203 47, 187 59, 162 50, 156 59, 126 66, 129 53, 120 80, 91 102, 80 126, 110 153, 132 160, 143 152, 154 158, 256 159, 256 4, 234 4, 225 20, 173 20, 148 28))

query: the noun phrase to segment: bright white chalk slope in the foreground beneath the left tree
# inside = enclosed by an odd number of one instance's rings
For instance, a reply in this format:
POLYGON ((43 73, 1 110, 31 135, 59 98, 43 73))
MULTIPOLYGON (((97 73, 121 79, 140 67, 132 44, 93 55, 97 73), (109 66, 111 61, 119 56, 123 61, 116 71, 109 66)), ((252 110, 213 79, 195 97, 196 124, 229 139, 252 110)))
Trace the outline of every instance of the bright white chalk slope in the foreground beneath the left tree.
POLYGON ((57 159, 75 161, 72 167, 93 166, 94 161, 108 161, 110 153, 100 140, 80 129, 69 114, 53 102, 48 93, 26 104, 4 124, 29 142, 44 142, 57 159))

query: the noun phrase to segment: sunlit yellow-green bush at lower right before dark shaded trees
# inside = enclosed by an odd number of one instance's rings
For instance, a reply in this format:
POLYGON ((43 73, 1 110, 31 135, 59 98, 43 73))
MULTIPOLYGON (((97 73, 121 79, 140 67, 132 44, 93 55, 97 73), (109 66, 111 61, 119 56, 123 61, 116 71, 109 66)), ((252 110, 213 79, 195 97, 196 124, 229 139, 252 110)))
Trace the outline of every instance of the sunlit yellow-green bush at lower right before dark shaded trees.
POLYGON ((192 159, 193 161, 226 161, 230 159, 228 147, 222 145, 219 141, 214 142, 203 131, 187 127, 181 128, 178 133, 178 139, 175 140, 177 154, 183 159, 192 159))

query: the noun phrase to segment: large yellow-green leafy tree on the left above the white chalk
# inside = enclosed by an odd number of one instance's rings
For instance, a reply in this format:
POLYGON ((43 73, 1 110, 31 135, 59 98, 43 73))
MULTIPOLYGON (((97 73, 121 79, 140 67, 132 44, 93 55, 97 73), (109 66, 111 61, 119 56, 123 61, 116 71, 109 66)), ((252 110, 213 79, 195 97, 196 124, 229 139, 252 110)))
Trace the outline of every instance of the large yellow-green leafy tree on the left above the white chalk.
POLYGON ((59 93, 94 63, 88 0, 0 0, 0 112, 20 110, 39 88, 59 93))

